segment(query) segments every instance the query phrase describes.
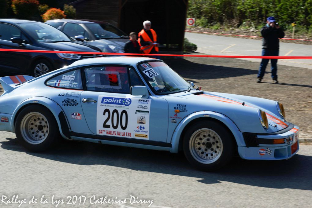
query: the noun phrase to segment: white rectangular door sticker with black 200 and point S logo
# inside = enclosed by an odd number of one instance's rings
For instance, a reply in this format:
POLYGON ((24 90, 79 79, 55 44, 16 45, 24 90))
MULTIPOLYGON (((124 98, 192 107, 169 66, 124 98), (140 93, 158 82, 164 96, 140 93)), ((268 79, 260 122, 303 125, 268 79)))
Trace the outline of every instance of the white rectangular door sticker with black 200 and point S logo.
POLYGON ((98 97, 96 134, 149 139, 151 99, 135 97, 98 97))

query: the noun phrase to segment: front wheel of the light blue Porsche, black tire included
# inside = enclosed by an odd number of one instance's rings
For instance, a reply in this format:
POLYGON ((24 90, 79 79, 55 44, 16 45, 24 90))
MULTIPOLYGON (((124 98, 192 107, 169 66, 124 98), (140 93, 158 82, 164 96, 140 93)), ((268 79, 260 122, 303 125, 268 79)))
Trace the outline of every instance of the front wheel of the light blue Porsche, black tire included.
POLYGON ((199 121, 183 137, 185 157, 202 171, 224 167, 231 161, 235 146, 231 132, 215 121, 199 121))

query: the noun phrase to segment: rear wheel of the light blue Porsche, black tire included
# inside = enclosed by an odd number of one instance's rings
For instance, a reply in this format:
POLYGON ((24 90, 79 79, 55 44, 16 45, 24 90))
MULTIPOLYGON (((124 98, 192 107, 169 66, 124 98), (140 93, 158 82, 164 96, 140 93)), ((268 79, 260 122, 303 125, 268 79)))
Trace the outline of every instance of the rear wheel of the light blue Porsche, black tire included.
POLYGON ((17 140, 32 152, 45 151, 61 140, 53 114, 38 105, 27 106, 17 115, 15 134, 17 140))

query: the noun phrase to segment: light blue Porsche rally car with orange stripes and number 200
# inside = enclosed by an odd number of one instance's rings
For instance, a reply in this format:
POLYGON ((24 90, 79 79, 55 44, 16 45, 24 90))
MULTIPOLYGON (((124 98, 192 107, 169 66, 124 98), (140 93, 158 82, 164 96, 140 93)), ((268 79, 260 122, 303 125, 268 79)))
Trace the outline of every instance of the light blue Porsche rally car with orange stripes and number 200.
POLYGON ((285 120, 281 103, 201 91, 158 59, 85 59, 0 83, 0 131, 15 133, 31 151, 63 137, 183 151, 193 166, 211 171, 237 152, 244 159, 282 160, 299 150, 299 127, 285 120))

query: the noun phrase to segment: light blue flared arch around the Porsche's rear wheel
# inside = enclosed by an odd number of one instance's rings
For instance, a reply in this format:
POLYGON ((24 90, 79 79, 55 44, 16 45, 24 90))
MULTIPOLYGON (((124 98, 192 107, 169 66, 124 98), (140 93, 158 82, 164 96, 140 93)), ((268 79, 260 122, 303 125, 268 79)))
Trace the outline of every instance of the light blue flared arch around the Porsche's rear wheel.
POLYGON ((12 119, 11 119, 11 128, 12 128, 13 132, 15 132, 15 125, 14 124, 15 124, 15 119, 17 117, 18 112, 24 106, 29 105, 29 104, 43 105, 46 108, 48 108, 52 112, 52 114, 54 115, 54 117, 56 119, 56 122, 57 122, 57 125, 59 127, 59 130, 60 130, 62 137, 66 138, 66 139, 70 139, 69 135, 66 133, 67 131, 69 132, 70 126, 69 126, 69 123, 67 121, 67 118, 64 116, 65 113, 63 112, 61 107, 56 102, 54 102, 53 100, 51 100, 47 97, 31 97, 31 98, 24 100, 23 102, 21 102, 17 106, 17 108, 15 109, 15 111, 12 114, 12 119), (67 126, 65 126, 65 125, 67 125, 67 126))

